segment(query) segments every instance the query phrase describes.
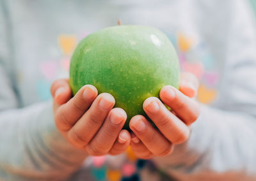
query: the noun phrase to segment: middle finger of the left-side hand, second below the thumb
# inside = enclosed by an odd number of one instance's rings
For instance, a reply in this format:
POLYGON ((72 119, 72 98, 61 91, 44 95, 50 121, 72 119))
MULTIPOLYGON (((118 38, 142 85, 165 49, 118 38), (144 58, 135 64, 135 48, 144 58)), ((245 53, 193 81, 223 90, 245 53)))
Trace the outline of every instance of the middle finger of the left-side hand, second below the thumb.
POLYGON ((99 131, 108 112, 115 105, 115 99, 108 93, 100 94, 92 106, 68 131, 68 138, 77 147, 85 147, 99 131))

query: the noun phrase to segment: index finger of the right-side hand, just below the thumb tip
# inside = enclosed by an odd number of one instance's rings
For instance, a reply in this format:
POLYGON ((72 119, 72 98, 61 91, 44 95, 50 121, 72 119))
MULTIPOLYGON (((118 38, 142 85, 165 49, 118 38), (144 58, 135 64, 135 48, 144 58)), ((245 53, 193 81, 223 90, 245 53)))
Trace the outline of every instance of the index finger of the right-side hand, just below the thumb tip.
POLYGON ((160 98, 187 125, 195 122, 199 116, 198 103, 171 85, 166 85, 161 89, 160 98))

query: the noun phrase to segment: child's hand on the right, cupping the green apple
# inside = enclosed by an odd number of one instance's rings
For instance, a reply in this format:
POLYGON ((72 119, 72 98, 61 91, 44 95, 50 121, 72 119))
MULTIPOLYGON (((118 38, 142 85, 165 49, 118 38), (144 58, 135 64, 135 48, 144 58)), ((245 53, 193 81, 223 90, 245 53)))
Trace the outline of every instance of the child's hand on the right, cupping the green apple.
POLYGON ((142 115, 132 117, 129 124, 133 132, 131 147, 136 156, 142 159, 166 156, 172 152, 173 145, 183 143, 189 138, 189 125, 199 116, 199 105, 192 99, 196 95, 197 87, 198 80, 195 76, 183 73, 180 78, 181 92, 170 85, 164 86, 160 92, 161 100, 172 111, 157 98, 144 101, 143 109, 159 130, 142 115))

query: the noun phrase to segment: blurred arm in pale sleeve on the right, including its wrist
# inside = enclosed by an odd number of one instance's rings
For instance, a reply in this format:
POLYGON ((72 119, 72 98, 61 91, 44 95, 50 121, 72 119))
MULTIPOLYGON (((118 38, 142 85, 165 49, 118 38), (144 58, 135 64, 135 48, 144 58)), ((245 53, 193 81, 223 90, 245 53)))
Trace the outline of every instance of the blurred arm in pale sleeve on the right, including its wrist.
MULTIPOLYGON (((171 156, 157 157, 154 161, 180 180, 256 180, 255 24, 246 1, 217 3, 229 6, 220 7, 227 11, 228 18, 216 15, 227 18, 228 22, 213 25, 224 34, 218 37, 223 44, 216 44, 220 51, 225 50, 221 57, 225 66, 218 101, 214 106, 202 105, 201 115, 191 127, 186 143, 177 145, 171 156)), ((215 12, 220 13, 221 9, 215 8, 215 12)), ((202 28, 214 22, 206 20, 202 28)))

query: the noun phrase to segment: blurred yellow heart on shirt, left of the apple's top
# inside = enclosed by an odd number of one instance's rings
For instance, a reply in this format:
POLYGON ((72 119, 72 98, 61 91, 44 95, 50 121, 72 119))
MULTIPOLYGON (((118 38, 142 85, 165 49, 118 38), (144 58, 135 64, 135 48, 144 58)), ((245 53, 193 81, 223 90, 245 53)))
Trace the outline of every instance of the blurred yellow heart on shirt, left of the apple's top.
POLYGON ((58 36, 58 43, 63 54, 70 55, 74 48, 76 48, 77 37, 74 34, 60 34, 58 36))

